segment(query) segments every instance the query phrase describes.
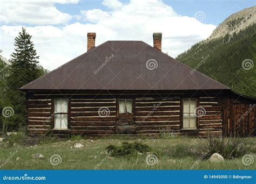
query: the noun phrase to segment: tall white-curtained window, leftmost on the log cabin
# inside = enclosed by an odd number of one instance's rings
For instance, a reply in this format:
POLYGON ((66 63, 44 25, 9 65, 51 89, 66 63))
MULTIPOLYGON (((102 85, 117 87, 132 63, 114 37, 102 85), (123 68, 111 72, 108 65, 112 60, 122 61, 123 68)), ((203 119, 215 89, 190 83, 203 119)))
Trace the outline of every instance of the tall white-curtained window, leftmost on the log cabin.
POLYGON ((68 100, 56 98, 54 102, 54 128, 68 129, 68 100))

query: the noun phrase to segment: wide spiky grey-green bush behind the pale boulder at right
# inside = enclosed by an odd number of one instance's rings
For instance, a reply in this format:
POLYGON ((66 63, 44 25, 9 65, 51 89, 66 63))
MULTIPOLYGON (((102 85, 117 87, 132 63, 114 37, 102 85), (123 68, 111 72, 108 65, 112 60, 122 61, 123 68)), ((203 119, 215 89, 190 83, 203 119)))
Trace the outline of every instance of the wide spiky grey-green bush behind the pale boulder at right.
POLYGON ((191 152, 200 158, 210 158, 213 153, 219 153, 224 159, 233 159, 246 153, 244 138, 208 136, 200 139, 198 144, 191 147, 191 152))

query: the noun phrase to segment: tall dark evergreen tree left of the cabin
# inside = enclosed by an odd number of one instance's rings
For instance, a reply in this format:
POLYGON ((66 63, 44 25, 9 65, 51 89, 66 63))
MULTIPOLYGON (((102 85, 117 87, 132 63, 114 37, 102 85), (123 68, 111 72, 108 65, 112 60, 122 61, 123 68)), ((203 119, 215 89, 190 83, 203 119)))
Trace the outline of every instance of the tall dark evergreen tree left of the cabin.
POLYGON ((26 122, 25 93, 19 88, 43 75, 31 37, 22 27, 22 31, 15 38, 15 52, 11 54, 7 95, 14 109, 14 116, 11 117, 10 129, 17 129, 18 125, 26 122))

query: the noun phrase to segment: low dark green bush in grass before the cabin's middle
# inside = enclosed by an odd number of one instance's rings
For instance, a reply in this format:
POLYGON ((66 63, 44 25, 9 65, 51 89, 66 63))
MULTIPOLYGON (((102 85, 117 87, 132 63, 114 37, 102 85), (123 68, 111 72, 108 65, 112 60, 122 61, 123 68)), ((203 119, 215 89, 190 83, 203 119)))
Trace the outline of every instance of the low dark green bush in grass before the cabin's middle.
POLYGON ((152 149, 142 143, 134 142, 134 143, 128 143, 128 142, 123 142, 122 146, 114 146, 114 145, 109 145, 106 147, 106 150, 108 152, 112 152, 113 156, 123 156, 123 155, 128 155, 128 154, 136 154, 137 152, 144 153, 144 152, 149 152, 152 149))

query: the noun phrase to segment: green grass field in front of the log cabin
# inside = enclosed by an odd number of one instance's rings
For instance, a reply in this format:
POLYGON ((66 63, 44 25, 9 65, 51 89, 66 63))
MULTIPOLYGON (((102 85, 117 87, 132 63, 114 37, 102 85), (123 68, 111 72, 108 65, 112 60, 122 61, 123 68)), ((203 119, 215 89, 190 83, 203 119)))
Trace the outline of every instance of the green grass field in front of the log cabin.
MULTIPOLYGON (((225 162, 212 163, 201 160, 189 151, 189 147, 197 144, 197 138, 102 138, 90 142, 89 139, 58 140, 53 143, 38 145, 14 145, 6 146, 6 142, 0 145, 0 169, 255 169, 256 164, 246 166, 242 164, 242 157, 225 162), (154 165, 146 163, 147 153, 116 156, 107 158, 100 154, 106 146, 122 145, 123 141, 144 143, 152 147, 152 153, 158 158, 154 165), (82 148, 71 148, 75 143, 84 145, 82 148), (41 153, 44 159, 33 159, 32 154, 41 153), (62 162, 52 165, 50 158, 58 154, 62 162), (16 160, 17 157, 21 158, 16 160), (2 164, 2 165, 1 165, 2 164)), ((256 158, 256 138, 246 138, 246 154, 256 158)), ((149 153, 148 153, 149 154, 149 153)), ((55 160, 56 161, 56 160, 55 160)))

